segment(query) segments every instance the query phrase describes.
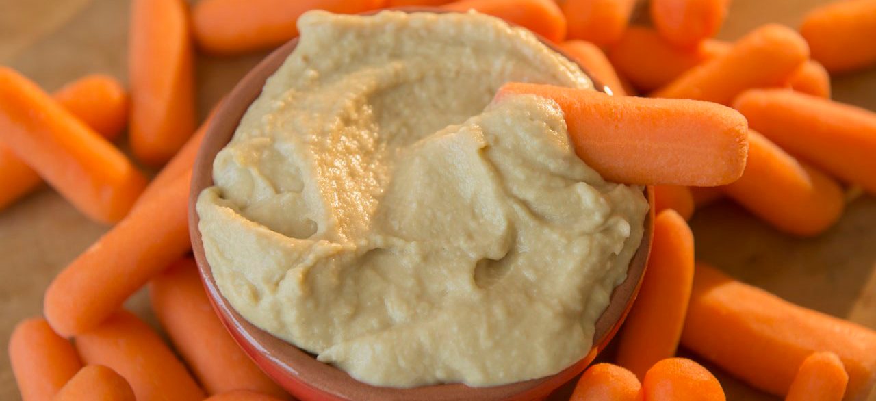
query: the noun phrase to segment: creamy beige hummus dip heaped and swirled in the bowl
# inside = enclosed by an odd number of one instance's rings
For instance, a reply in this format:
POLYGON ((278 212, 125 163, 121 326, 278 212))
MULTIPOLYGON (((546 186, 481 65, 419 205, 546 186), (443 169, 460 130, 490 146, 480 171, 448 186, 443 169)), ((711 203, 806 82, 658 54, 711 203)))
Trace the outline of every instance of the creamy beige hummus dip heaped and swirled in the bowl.
POLYGON ((197 202, 230 305, 376 385, 512 383, 586 355, 646 200, 576 157, 555 102, 491 103, 586 75, 477 13, 299 26, 197 202))

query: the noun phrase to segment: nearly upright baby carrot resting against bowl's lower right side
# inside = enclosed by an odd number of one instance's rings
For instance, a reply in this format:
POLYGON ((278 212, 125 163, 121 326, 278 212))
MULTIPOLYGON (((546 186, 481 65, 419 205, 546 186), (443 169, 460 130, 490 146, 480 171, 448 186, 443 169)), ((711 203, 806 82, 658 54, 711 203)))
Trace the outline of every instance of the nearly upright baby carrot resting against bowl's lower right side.
POLYGON ((654 219, 651 257, 618 342, 618 365, 639 378, 675 356, 694 279, 694 235, 675 210, 654 219))

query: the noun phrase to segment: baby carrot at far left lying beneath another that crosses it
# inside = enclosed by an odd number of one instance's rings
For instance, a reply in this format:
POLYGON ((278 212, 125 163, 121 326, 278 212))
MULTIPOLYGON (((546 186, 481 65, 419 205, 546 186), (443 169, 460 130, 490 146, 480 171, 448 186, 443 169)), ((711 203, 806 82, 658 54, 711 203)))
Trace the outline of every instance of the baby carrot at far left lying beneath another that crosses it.
MULTIPOLYGON (((105 75, 88 75, 53 94, 60 106, 98 134, 112 140, 128 118, 128 95, 122 85, 105 75)), ((0 210, 36 189, 43 179, 0 143, 0 210)))

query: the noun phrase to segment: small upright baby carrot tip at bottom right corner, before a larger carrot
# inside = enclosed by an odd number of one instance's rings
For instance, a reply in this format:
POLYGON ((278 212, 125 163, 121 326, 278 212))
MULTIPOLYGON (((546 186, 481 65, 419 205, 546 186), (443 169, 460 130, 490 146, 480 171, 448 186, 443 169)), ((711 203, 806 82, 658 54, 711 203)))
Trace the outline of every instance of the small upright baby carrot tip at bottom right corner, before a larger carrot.
POLYGON ((849 375, 832 352, 809 355, 797 370, 785 401, 842 401, 849 375))

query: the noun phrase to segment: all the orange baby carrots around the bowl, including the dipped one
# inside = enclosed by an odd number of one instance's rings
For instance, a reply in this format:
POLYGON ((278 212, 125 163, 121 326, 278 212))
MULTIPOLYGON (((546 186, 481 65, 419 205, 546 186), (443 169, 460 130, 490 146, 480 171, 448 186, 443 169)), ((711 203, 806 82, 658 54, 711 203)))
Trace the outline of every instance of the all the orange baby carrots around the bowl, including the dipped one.
POLYGON ((711 39, 728 1, 650 0, 646 27, 629 26, 635 0, 201 0, 191 10, 131 0, 130 94, 92 75, 48 95, 0 67, 0 209, 45 181, 113 224, 53 280, 45 319, 12 334, 22 397, 287 399, 224 330, 188 257, 189 180, 209 122, 195 129, 195 49, 279 46, 313 9, 427 5, 555 42, 612 96, 511 83, 497 97, 553 99, 584 161, 654 186, 653 250, 617 357, 587 369, 573 399, 723 400, 707 369, 675 357, 679 345, 788 400, 865 399, 876 332, 697 263, 686 221, 725 196, 788 235, 816 236, 840 218, 849 188, 876 193, 876 114, 830 100, 830 74, 876 65, 876 0, 826 5, 799 32, 764 25, 732 43, 711 39), (163 167, 151 181, 114 145, 125 126, 133 158, 163 167), (173 349, 122 308, 144 286, 173 349))

